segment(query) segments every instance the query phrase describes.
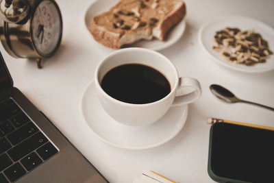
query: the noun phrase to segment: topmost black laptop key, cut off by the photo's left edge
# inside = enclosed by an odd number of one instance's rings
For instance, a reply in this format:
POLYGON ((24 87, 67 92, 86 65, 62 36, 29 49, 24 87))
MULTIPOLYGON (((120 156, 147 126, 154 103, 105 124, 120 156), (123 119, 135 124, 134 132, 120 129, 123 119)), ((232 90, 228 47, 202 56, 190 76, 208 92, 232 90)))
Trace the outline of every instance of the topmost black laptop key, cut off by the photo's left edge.
POLYGON ((14 116, 14 114, 17 114, 18 112, 21 112, 21 109, 12 99, 3 101, 3 103, 0 104, 0 123, 14 116))

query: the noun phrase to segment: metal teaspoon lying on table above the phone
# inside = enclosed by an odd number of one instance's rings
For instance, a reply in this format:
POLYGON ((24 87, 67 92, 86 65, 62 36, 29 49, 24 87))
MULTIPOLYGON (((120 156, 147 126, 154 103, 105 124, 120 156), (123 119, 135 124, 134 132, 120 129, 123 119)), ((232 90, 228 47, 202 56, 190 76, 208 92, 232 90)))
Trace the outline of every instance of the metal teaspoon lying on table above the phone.
POLYGON ((210 85, 210 90, 216 97, 218 97, 219 99, 222 99, 223 101, 226 101, 228 103, 236 103, 236 102, 250 103, 250 104, 260 106, 260 107, 274 111, 274 108, 271 108, 269 106, 264 106, 260 103, 255 103, 252 101, 245 101, 245 100, 239 99, 231 91, 227 90, 226 88, 223 88, 223 86, 220 86, 218 84, 210 85))

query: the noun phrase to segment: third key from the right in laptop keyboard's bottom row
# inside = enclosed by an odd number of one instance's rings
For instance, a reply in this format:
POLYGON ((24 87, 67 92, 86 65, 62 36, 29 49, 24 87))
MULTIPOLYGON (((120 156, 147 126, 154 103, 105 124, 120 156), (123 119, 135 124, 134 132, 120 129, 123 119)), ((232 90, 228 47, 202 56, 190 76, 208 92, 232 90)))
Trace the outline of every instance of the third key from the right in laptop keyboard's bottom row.
POLYGON ((16 164, 12 165, 12 167, 6 169, 4 173, 10 182, 14 182, 15 180, 18 180, 18 178, 21 178, 23 175, 25 175, 26 171, 21 166, 21 164, 16 162, 16 164))

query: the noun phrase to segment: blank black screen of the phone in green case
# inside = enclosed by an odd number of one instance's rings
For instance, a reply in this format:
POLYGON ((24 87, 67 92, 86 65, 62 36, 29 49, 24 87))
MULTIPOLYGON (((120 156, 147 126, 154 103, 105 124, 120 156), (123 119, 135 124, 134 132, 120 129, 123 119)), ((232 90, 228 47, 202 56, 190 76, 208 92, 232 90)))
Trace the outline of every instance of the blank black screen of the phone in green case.
POLYGON ((274 182, 274 131, 243 125, 212 125, 211 169, 223 178, 274 182))

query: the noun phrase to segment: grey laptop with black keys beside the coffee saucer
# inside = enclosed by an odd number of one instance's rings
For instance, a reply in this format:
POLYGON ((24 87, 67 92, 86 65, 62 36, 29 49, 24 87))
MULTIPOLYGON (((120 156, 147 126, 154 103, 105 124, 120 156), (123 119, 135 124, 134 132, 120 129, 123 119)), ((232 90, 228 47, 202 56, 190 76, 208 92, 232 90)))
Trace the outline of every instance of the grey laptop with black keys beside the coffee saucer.
POLYGON ((0 182, 108 182, 13 86, 1 53, 0 182))

